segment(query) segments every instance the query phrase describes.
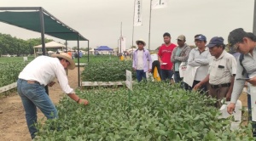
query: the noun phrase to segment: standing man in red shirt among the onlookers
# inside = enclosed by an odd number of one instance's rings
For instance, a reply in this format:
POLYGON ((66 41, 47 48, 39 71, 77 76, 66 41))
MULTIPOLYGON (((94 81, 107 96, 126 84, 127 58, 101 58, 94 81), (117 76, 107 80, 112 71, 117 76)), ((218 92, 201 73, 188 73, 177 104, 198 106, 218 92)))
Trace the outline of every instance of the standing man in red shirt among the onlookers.
POLYGON ((170 33, 164 34, 164 42, 159 51, 158 51, 158 60, 160 62, 160 77, 161 80, 166 81, 166 79, 171 80, 172 79, 172 62, 171 62, 171 56, 172 51, 176 47, 175 44, 171 42, 171 35, 170 33))

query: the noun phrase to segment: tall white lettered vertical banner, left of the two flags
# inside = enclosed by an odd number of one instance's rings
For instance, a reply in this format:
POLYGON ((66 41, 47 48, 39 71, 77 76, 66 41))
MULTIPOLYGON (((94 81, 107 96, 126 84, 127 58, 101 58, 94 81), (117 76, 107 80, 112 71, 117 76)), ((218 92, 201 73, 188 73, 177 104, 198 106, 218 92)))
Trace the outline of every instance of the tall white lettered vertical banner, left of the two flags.
POLYGON ((134 8, 134 26, 143 25, 143 17, 142 17, 142 0, 135 1, 135 8, 134 8))

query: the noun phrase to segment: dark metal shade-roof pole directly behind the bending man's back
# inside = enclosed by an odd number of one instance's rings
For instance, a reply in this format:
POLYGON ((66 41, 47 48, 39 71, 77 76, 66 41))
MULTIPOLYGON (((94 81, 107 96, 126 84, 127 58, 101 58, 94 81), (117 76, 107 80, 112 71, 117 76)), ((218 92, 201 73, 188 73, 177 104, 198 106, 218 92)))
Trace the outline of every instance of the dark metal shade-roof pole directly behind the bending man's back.
MULTIPOLYGON (((42 52, 45 55, 45 42, 44 42, 44 13, 43 8, 39 8, 40 26, 41 26, 41 41, 42 41, 42 52)), ((48 85, 45 87, 45 92, 49 95, 48 85)))

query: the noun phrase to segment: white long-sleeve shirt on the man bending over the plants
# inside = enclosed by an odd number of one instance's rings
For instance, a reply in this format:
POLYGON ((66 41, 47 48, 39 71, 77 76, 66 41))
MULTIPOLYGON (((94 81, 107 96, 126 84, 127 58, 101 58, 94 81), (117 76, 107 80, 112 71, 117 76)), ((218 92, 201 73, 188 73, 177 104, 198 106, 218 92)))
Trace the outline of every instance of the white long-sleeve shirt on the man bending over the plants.
POLYGON ((37 81, 44 86, 52 82, 55 77, 58 79, 64 93, 74 93, 73 88, 68 85, 66 71, 57 58, 39 56, 26 65, 19 75, 20 79, 37 81))

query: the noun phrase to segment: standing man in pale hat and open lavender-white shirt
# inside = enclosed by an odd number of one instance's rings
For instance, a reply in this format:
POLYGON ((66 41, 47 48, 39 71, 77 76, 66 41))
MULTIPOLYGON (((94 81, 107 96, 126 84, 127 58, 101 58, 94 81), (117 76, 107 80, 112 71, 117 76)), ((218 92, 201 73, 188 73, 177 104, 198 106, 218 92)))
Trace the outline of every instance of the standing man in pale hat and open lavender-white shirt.
POLYGON ((143 78, 146 79, 146 72, 151 72, 152 59, 148 50, 144 48, 146 42, 141 39, 137 40, 136 43, 137 50, 133 53, 132 68, 136 71, 137 81, 141 82, 143 78))

